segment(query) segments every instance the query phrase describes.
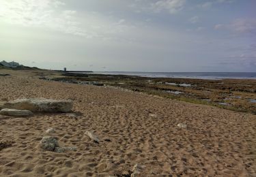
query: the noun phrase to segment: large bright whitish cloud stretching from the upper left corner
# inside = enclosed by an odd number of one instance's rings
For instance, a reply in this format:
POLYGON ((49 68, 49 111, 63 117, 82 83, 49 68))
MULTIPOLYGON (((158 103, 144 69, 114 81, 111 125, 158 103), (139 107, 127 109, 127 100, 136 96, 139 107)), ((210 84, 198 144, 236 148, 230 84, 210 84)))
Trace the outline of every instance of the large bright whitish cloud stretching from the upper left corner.
POLYGON ((106 18, 100 13, 70 10, 59 0, 2 0, 0 1, 0 22, 24 27, 42 28, 86 38, 102 37, 131 29, 126 20, 106 18))

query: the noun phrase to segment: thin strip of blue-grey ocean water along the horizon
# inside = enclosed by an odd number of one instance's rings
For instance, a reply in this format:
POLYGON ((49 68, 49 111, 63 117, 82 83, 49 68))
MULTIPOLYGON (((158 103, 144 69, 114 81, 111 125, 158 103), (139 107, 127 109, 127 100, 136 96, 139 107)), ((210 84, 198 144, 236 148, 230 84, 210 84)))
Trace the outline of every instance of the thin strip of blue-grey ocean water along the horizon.
POLYGON ((94 74, 128 75, 149 78, 199 78, 212 80, 236 78, 256 80, 256 72, 94 72, 94 74))

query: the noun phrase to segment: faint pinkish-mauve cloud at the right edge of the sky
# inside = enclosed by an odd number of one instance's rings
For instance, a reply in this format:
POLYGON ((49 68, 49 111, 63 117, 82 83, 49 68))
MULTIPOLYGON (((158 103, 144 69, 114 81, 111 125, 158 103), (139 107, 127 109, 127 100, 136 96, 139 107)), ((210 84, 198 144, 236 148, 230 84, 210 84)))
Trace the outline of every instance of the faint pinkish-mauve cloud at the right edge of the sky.
POLYGON ((227 25, 215 25, 214 29, 226 29, 240 34, 256 34, 256 18, 237 18, 227 25))

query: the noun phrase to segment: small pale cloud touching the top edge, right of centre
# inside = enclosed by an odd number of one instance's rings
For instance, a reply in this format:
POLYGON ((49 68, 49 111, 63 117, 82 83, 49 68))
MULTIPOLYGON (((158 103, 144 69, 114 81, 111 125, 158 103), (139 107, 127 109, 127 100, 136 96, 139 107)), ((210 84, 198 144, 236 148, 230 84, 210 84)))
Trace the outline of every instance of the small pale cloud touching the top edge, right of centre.
POLYGON ((161 12, 162 10, 167 10, 171 14, 175 14, 183 9, 186 0, 159 0, 155 3, 151 3, 152 10, 154 12, 161 12))

